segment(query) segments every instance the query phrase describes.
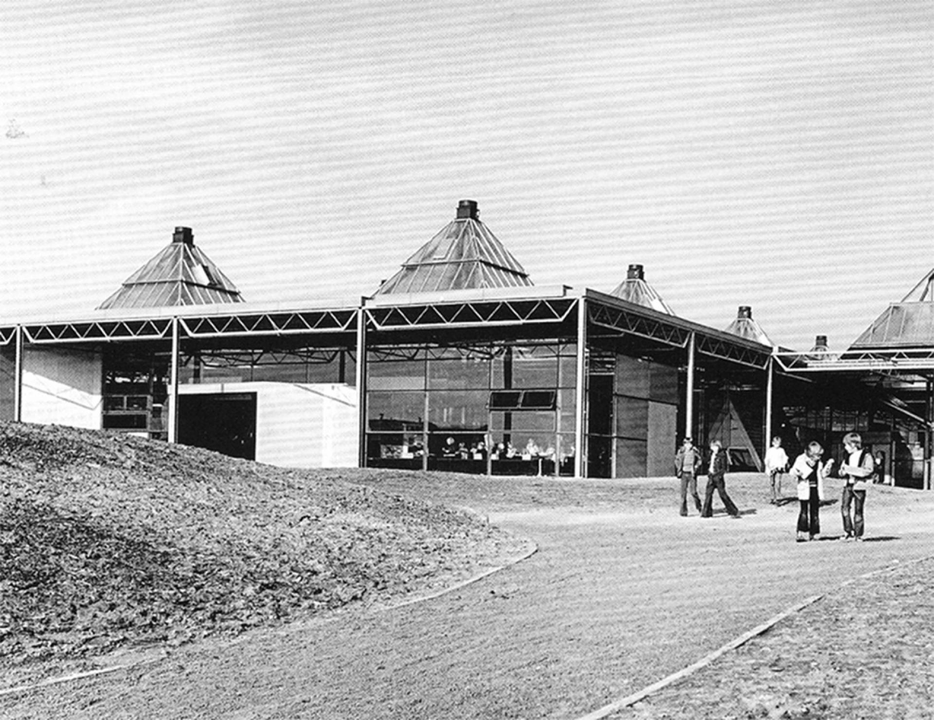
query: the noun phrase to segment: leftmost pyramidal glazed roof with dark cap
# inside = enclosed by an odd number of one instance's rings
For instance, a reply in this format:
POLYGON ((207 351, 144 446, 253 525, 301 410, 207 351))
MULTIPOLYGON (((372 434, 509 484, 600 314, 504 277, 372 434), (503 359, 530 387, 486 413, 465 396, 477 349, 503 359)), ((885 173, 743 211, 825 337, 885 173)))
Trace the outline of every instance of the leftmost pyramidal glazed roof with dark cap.
POLYGON ((240 290, 195 247, 191 228, 176 228, 172 243, 126 278, 97 309, 242 302, 240 290))

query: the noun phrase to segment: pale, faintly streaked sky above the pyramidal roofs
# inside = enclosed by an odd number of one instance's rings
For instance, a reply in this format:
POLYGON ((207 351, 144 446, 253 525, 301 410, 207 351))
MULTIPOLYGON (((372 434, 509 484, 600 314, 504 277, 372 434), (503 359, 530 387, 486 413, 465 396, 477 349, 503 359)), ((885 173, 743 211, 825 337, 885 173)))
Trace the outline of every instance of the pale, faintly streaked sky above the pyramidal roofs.
POLYGON ((356 304, 460 199, 538 286, 848 346, 934 268, 927 0, 0 4, 0 318, 90 318, 193 228, 356 304))

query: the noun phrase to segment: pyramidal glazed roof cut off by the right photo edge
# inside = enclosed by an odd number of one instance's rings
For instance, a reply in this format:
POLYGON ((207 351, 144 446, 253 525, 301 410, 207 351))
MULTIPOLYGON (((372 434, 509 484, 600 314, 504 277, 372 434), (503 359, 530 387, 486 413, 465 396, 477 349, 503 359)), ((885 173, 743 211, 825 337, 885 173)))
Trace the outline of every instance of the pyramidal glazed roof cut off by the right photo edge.
POLYGON ((934 270, 921 278, 900 303, 856 338, 852 347, 929 346, 934 344, 934 270))

